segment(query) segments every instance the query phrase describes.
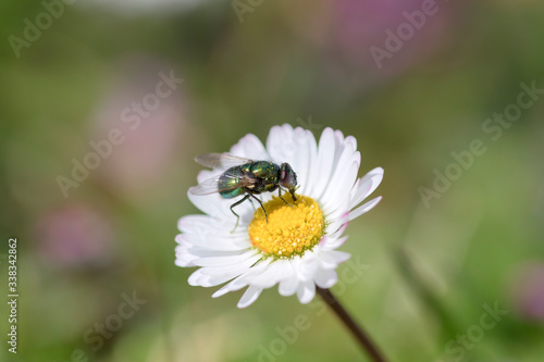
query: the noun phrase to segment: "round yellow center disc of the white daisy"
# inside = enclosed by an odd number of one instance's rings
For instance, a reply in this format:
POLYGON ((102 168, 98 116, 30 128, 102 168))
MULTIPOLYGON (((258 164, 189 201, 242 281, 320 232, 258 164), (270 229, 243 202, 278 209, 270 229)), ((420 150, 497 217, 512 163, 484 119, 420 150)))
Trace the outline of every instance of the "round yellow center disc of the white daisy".
POLYGON ((302 254, 313 248, 325 232, 323 213, 316 200, 297 195, 294 202, 288 194, 283 198, 289 204, 276 196, 272 197, 263 204, 269 222, 259 208, 248 228, 251 244, 264 254, 275 258, 302 254))

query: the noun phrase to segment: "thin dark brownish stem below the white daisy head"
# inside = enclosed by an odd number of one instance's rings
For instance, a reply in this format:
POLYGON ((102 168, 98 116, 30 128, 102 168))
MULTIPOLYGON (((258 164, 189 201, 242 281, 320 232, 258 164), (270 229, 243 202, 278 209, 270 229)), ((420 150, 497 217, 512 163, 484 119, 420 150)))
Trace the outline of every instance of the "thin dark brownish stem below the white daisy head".
POLYGON ((323 298, 323 301, 331 307, 331 309, 336 313, 336 315, 344 322, 346 327, 348 327, 349 332, 354 335, 354 337, 359 341, 362 349, 367 351, 370 355, 371 360, 374 362, 386 362, 387 360, 380 352, 374 342, 370 339, 370 337, 364 333, 364 330, 354 321, 354 319, 349 315, 349 313, 342 307, 338 300, 333 296, 331 290, 322 289, 316 286, 318 294, 323 298))

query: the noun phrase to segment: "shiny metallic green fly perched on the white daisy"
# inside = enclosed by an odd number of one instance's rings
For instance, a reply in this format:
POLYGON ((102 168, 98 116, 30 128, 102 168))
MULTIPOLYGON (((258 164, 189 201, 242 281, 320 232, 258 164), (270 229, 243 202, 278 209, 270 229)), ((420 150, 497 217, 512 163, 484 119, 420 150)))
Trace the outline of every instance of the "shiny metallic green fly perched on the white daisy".
MULTIPOLYGON (((224 199, 232 199, 245 195, 242 200, 231 205, 231 211, 236 215, 236 227, 238 226, 239 215, 233 208, 246 200, 257 200, 264 211, 264 217, 268 223, 267 210, 256 195, 262 192, 279 191, 280 198, 286 204, 290 205, 282 198, 282 188, 285 188, 293 200, 297 201, 295 189, 297 186, 297 174, 288 163, 277 165, 270 161, 252 161, 239 158, 230 153, 208 153, 198 155, 195 161, 207 167, 228 167, 221 175, 206 179, 189 189, 193 195, 210 195, 219 192, 224 199)), ((290 205, 292 207, 292 205, 290 205)))

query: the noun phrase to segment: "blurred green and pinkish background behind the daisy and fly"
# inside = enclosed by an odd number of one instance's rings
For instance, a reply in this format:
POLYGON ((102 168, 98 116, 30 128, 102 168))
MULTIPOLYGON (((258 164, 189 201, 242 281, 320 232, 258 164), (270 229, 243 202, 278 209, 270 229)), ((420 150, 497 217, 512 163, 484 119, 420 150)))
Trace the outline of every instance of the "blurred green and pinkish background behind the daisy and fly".
POLYGON ((174 265, 193 158, 284 123, 354 135, 361 175, 385 170, 342 248, 368 269, 333 291, 392 361, 544 359, 543 95, 485 132, 520 84, 544 88, 541 1, 66 2, 0 4, 0 285, 8 300, 16 237, 20 294, 16 355, 0 303, 1 361, 367 361, 318 299, 273 288, 238 310, 242 291, 211 299, 174 265), (111 129, 123 141, 65 197, 59 176, 111 129), (474 139, 486 152, 455 166, 474 139), (508 313, 482 328, 485 305, 508 313), (311 327, 282 339, 299 315, 311 327))

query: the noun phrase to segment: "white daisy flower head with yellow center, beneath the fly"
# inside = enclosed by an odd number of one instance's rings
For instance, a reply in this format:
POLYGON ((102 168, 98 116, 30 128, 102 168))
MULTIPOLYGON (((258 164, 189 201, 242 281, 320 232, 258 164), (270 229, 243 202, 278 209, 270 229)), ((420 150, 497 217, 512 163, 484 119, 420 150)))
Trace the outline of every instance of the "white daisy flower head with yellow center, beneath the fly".
MULTIPOLYGON (((248 287, 238 302, 245 308, 265 288, 279 284, 282 296, 297 294, 301 303, 316 295, 316 285, 330 288, 337 282, 336 267, 350 254, 337 251, 349 221, 375 207, 378 197, 359 205, 383 178, 381 167, 357 178, 360 153, 354 137, 325 128, 319 140, 300 127, 274 126, 267 148, 254 135, 242 138, 230 153, 250 160, 287 162, 296 172, 299 188, 297 201, 288 192, 282 202, 276 192, 260 195, 268 223, 258 204, 244 202, 230 207, 236 199, 219 194, 194 196, 190 201, 206 215, 188 215, 178 222, 176 265, 199 266, 189 276, 191 286, 214 287, 227 283, 213 298, 248 287), (280 201, 279 201, 280 200, 280 201)), ((222 174, 225 168, 201 171, 198 182, 222 174)))

